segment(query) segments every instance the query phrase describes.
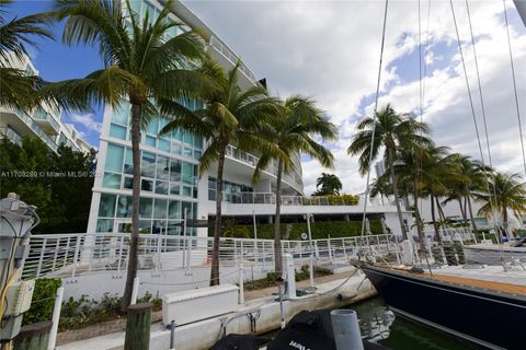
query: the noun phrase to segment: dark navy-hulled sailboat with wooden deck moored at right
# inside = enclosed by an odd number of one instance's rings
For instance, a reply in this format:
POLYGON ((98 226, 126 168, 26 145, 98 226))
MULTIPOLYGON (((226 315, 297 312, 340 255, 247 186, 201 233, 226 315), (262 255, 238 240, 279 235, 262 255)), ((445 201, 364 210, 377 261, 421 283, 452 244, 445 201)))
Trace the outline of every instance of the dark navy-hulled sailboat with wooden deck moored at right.
MULTIPOLYGON (((526 25, 526 1, 514 2, 526 25)), ((455 19, 453 2, 450 4, 455 19)), ((456 20, 455 26, 462 55, 456 20)), ((467 85, 469 92, 468 81, 467 85)), ((403 247, 409 245, 411 243, 405 241, 403 247)), ((404 253, 409 260, 413 259, 411 252, 404 253)), ((502 254, 502 246, 499 254, 502 254)), ((373 260, 377 260, 377 257, 373 260)), ((405 261, 411 262, 408 259, 405 261)), ((483 348, 526 349, 526 268, 519 259, 502 264, 504 258, 501 257, 499 261, 494 266, 432 266, 428 261, 421 266, 393 266, 387 261, 361 261, 358 266, 386 304, 399 316, 483 348)))

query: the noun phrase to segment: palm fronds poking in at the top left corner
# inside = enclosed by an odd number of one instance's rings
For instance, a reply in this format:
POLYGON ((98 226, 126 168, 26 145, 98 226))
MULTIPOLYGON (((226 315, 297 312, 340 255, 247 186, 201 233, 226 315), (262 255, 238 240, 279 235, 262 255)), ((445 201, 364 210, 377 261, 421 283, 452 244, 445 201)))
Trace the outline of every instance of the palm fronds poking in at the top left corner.
POLYGON ((53 38, 46 28, 53 18, 38 13, 8 21, 4 7, 11 2, 0 0, 0 105, 28 112, 38 104, 38 88, 44 81, 36 75, 26 75, 13 65, 27 56, 27 45, 36 47, 33 37, 53 38))

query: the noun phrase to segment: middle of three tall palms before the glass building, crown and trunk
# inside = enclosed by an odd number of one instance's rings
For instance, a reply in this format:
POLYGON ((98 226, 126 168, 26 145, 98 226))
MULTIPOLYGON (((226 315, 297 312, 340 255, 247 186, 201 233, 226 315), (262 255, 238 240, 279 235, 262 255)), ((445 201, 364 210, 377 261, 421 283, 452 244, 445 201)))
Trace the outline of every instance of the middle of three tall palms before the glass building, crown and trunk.
MULTIPOLYGON (((203 175, 217 163, 216 176, 216 221, 211 255, 210 285, 219 284, 219 237, 221 236, 222 173, 225 156, 230 143, 241 150, 264 150, 278 154, 275 145, 261 138, 255 130, 265 121, 265 116, 276 113, 276 100, 267 96, 264 88, 258 85, 242 91, 238 84, 238 62, 233 69, 225 72, 219 65, 206 61, 201 71, 213 79, 217 89, 211 93, 204 109, 174 119, 162 130, 183 128, 204 136, 209 140, 201 158, 199 173, 203 175)), ((161 112, 175 114, 179 106, 164 104, 161 112)))

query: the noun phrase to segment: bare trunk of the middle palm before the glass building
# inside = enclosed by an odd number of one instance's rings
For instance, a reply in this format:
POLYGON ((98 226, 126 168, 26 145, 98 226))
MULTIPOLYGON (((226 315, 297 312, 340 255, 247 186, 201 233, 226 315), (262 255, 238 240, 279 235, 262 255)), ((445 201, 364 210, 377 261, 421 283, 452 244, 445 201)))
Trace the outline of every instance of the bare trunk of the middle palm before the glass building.
POLYGON ((222 171, 225 168, 225 152, 226 147, 221 149, 219 159, 217 160, 217 178, 216 178, 216 223, 214 225, 214 246, 211 250, 211 267, 210 267, 210 287, 219 284, 219 237, 221 236, 222 220, 221 220, 221 205, 222 205, 222 171))

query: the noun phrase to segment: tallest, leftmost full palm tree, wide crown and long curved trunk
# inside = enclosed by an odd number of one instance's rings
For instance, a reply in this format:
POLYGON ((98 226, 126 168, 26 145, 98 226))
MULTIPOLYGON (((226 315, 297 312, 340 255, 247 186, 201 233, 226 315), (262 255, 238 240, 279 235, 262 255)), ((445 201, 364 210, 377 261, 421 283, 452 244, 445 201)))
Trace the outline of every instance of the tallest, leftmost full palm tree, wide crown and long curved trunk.
POLYGON ((204 56, 201 36, 194 31, 171 38, 165 36, 182 26, 181 23, 168 20, 173 7, 172 0, 167 1, 156 21, 150 21, 147 12, 140 22, 130 11, 129 1, 126 4, 127 14, 123 12, 121 3, 115 1, 55 1, 57 19, 66 19, 64 43, 98 45, 104 68, 83 79, 67 80, 44 88, 45 93, 85 104, 105 103, 117 108, 122 101, 129 101, 134 179, 132 235, 123 311, 130 303, 133 281, 137 275, 140 130, 159 115, 156 105, 170 103, 170 115, 174 117, 190 114, 190 110, 174 101, 213 88, 202 73, 186 68, 204 56))

